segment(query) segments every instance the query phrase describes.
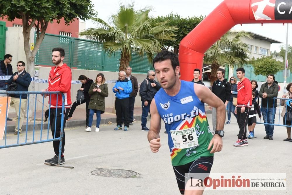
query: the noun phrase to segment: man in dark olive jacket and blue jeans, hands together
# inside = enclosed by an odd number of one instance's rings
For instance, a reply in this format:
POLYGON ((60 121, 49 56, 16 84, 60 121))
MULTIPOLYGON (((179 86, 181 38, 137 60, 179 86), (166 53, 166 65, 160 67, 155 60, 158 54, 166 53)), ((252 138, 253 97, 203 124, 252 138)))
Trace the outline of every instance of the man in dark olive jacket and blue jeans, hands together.
MULTIPOLYGON (((259 97, 262 98, 261 112, 263 115, 264 123, 275 123, 275 114, 277 111, 277 100, 274 97, 278 97, 278 84, 275 81, 274 74, 267 76, 267 82, 263 83, 260 87, 259 97)), ((274 125, 265 125, 266 136, 264 139, 273 140, 274 125)))

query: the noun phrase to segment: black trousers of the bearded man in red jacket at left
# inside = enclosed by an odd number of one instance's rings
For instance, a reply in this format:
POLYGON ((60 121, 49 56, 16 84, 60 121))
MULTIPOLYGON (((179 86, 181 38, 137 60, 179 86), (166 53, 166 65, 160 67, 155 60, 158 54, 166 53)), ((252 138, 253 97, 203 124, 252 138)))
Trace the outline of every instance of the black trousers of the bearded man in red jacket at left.
MULTIPOLYGON (((65 124, 66 124, 66 119, 68 116, 69 108, 64 109, 64 123, 63 123, 63 141, 62 141, 62 156, 64 155, 65 151, 65 124)), ((62 121, 62 108, 58 108, 57 110, 55 108, 51 108, 50 112, 50 125, 51 125, 51 130, 52 130, 52 135, 53 138, 58 138, 61 135, 61 121, 62 121), (56 117, 57 115, 57 117, 56 117), (55 126, 56 122, 56 126, 55 126), (54 136, 56 132, 56 137, 54 136)), ((53 141, 53 147, 54 147, 54 152, 58 156, 59 155, 59 145, 60 141, 53 141)))

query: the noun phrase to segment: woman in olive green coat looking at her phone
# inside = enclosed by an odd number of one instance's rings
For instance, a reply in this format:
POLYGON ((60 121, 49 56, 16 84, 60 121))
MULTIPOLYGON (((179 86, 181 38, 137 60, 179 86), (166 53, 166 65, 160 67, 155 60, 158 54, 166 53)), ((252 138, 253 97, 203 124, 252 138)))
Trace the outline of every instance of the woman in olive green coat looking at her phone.
POLYGON ((96 113, 95 132, 99 132, 99 124, 101 120, 100 115, 105 113, 105 97, 109 95, 107 83, 105 83, 105 76, 102 73, 99 73, 96 76, 95 82, 91 84, 88 94, 91 96, 88 105, 88 127, 85 129, 85 131, 91 131, 93 115, 96 113))

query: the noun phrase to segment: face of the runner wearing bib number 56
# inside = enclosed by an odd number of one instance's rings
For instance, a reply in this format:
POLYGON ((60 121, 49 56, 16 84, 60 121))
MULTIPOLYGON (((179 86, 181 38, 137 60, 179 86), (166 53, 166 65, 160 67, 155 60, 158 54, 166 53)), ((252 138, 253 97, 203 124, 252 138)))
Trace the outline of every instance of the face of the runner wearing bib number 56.
POLYGON ((180 67, 177 66, 174 71, 171 61, 168 59, 161 62, 155 62, 154 69, 161 87, 164 89, 171 89, 174 86, 176 79, 178 79, 180 67))

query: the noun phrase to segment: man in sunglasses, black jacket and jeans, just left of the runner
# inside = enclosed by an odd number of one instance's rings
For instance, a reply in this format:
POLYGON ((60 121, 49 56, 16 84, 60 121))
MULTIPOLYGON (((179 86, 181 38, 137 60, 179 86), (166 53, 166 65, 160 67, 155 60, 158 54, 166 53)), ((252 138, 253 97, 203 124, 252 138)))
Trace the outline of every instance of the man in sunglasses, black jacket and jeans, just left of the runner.
POLYGON ((142 116, 141 116, 141 126, 142 131, 149 131, 147 128, 147 116, 150 111, 150 104, 154 95, 161 88, 160 84, 154 80, 155 72, 153 70, 148 71, 147 78, 140 84, 140 96, 142 101, 142 116))

